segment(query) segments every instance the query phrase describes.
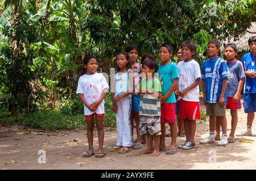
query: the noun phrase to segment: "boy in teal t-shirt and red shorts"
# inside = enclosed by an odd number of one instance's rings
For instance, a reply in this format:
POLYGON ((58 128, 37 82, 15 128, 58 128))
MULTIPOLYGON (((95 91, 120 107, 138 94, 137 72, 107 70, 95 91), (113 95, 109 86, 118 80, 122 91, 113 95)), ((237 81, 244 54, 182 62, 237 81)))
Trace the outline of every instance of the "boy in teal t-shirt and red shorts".
POLYGON ((171 146, 167 149, 166 154, 175 154, 177 153, 176 148, 176 138, 177 138, 177 126, 175 119, 175 103, 176 98, 174 91, 177 89, 179 73, 177 66, 170 62, 172 57, 173 49, 171 45, 162 44, 159 48, 159 58, 161 63, 158 65, 159 69, 159 79, 162 83, 162 98, 161 98, 161 131, 162 135, 160 136, 160 151, 166 150, 165 144, 165 134, 166 128, 165 124, 168 123, 171 129, 171 146))

